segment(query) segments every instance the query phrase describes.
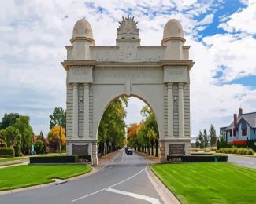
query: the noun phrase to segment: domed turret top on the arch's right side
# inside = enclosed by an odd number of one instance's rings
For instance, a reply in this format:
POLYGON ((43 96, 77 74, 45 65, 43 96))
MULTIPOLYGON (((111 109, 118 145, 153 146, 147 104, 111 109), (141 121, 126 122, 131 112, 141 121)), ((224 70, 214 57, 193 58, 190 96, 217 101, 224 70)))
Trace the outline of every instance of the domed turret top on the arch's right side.
POLYGON ((171 19, 165 24, 164 36, 162 41, 167 38, 184 38, 183 29, 180 22, 176 19, 171 19))

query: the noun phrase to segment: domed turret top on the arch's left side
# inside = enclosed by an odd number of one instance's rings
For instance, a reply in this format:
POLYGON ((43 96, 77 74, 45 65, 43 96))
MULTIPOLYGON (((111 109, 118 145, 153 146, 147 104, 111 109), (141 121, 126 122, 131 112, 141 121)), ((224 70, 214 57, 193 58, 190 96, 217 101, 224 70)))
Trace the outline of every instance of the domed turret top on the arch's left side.
POLYGON ((93 39, 91 24, 87 20, 85 19, 77 20, 73 28, 72 38, 76 38, 76 37, 85 37, 85 38, 93 39))

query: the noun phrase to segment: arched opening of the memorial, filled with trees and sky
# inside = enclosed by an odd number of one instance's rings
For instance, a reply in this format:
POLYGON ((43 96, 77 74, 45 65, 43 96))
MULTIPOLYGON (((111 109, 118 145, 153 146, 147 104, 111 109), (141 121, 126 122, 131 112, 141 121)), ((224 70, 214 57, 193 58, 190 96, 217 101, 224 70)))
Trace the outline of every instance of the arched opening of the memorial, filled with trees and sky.
POLYGON ((154 109, 137 95, 114 97, 102 109, 96 140, 98 158, 124 147, 158 157, 159 130, 154 109))

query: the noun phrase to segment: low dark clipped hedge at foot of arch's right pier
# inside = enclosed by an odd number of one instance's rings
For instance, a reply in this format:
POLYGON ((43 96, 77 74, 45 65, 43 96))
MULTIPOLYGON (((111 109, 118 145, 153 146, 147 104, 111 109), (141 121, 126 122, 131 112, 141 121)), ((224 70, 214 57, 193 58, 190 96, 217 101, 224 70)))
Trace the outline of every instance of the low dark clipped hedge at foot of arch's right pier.
POLYGON ((227 162, 226 155, 167 155, 167 162, 227 162))

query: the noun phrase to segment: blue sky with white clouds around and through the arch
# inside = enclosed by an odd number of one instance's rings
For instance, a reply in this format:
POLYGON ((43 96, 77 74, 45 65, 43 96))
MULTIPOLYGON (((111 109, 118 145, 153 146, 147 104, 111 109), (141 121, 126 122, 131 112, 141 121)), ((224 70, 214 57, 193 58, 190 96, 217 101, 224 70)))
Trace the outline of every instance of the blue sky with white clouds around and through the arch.
MULTIPOLYGON (((256 111, 256 0, 1 0, 0 120, 29 115, 35 134, 49 132, 54 107, 65 108, 65 46, 77 20, 87 19, 96 46, 114 46, 118 21, 135 16, 142 46, 160 46, 172 18, 191 46, 191 136, 232 122, 239 107, 256 111)), ((139 122, 143 101, 131 98, 127 123, 139 122)))

